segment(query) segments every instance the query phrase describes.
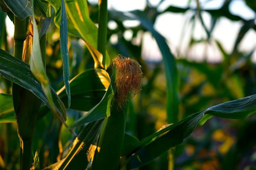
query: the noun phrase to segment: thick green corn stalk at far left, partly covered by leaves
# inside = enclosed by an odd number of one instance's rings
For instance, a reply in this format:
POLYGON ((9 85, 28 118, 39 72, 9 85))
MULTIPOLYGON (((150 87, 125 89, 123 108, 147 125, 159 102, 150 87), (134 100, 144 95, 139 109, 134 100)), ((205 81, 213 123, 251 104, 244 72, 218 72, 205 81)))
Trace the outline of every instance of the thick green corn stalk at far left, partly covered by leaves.
MULTIPOLYGON (((14 16, 14 57, 20 60, 22 60, 23 43, 26 37, 26 19, 20 20, 14 16)), ((32 137, 41 100, 15 83, 12 85, 12 100, 20 137, 20 170, 28 170, 30 169, 32 137)))

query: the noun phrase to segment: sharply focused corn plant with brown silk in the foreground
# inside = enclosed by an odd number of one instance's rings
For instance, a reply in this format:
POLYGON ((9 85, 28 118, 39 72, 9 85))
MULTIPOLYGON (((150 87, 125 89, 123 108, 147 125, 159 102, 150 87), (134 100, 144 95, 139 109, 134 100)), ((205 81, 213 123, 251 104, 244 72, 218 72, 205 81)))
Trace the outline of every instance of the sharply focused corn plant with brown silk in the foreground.
MULTIPOLYGON (((0 116, 2 122, 17 122, 20 169, 136 169, 167 151, 173 154, 171 148, 180 145, 196 126, 202 126, 212 116, 241 119, 256 112, 256 96, 252 95, 179 120, 177 61, 164 37, 143 12, 110 11, 117 21, 139 20, 143 29, 156 39, 164 60, 168 124, 140 141, 129 135, 125 131, 127 110, 131 109, 129 99, 142 88, 143 68, 132 57, 110 56, 106 47, 107 0, 99 0, 98 7, 97 27, 90 18, 87 1, 1 1, 2 11, 14 23, 14 54, 9 54, 7 47, 0 49, 0 74, 12 81, 12 95, 0 94, 0 116), (54 17, 51 8, 55 10, 54 17), (52 20, 59 28, 63 67, 64 86, 57 91, 46 74, 47 30, 52 20), (70 36, 84 41, 94 62, 93 68, 83 70, 72 79, 68 51, 70 36), (66 109, 86 114, 67 125, 66 109), (31 157, 33 137, 36 124, 41 119, 48 119, 49 111, 56 119, 55 125, 60 131, 66 126, 69 131, 65 133, 69 133, 73 141, 66 152, 60 152, 58 161, 40 167, 40 151, 31 157)), ((8 81, 5 84, 8 87, 8 81)))

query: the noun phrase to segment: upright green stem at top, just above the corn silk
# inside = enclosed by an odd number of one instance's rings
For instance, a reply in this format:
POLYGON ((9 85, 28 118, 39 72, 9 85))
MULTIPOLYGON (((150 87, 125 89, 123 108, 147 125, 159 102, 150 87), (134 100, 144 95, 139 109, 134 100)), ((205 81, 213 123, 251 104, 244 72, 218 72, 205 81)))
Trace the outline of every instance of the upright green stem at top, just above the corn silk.
POLYGON ((99 29, 97 49, 102 54, 102 65, 106 62, 108 0, 99 0, 99 29))

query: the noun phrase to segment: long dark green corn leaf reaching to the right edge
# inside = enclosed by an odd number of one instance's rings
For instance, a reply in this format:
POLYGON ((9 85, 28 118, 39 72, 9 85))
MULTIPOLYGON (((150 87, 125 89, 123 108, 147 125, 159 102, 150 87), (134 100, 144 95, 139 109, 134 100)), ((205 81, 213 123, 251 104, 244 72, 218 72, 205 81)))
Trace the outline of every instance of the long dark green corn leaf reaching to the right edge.
POLYGON ((156 133, 135 144, 123 153, 126 168, 134 169, 157 158, 171 147, 183 142, 196 128, 212 116, 241 119, 256 112, 256 95, 229 101, 190 115, 172 125, 166 125, 156 133), (167 133, 166 133, 167 132, 167 133), (165 134, 164 134, 165 133, 165 134))

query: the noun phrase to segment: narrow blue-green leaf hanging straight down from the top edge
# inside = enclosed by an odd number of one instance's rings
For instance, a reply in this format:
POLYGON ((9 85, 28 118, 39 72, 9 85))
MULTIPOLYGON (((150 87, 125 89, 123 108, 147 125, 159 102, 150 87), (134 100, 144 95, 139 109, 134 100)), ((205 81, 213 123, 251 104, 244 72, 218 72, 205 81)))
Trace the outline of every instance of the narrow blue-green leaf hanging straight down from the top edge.
POLYGON ((61 1, 61 17, 60 17, 60 51, 63 63, 63 77, 66 93, 68 95, 68 108, 70 107, 70 87, 69 87, 69 62, 68 62, 68 24, 64 0, 61 1))

